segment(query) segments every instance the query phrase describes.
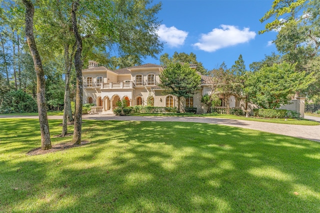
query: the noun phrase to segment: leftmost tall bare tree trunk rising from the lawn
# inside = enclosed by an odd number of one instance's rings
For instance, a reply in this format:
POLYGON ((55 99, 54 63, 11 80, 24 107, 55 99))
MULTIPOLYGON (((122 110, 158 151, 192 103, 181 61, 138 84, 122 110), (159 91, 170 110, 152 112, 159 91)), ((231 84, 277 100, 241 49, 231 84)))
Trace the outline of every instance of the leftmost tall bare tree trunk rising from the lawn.
POLYGON ((28 43, 30 53, 33 58, 34 70, 36 73, 36 101, 38 105, 40 132, 41 132, 41 149, 51 149, 50 132, 48 118, 46 115, 45 102, 45 79, 41 58, 36 48, 33 36, 33 14, 34 7, 30 0, 22 0, 25 5, 25 36, 28 43))

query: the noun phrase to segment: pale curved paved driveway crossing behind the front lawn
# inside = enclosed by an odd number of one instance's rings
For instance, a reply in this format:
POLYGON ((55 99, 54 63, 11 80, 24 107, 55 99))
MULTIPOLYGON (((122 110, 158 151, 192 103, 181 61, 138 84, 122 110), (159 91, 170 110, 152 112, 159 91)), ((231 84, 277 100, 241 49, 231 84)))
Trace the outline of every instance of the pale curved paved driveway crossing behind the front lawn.
MULTIPOLYGON (((305 119, 320 122, 320 117, 304 116, 305 119)), ((37 116, 0 116, 0 118, 38 118, 37 116)), ((62 116, 48 116, 49 119, 62 119, 62 116)), ((303 126, 290 124, 275 124, 258 121, 243 121, 210 117, 174 117, 174 116, 115 116, 113 114, 83 115, 83 119, 91 120, 118 120, 118 121, 160 121, 160 122, 198 122, 209 124, 220 124, 226 126, 240 127, 280 135, 292 136, 320 142, 320 125, 303 126)))

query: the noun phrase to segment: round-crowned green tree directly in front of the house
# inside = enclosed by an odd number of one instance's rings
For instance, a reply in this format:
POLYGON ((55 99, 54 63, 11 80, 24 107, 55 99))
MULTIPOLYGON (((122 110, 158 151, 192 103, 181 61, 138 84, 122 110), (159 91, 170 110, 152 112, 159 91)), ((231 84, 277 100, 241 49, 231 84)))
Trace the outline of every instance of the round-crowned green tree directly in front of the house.
POLYGON ((186 63, 171 63, 160 73, 159 86, 164 89, 163 94, 175 95, 178 98, 178 112, 180 112, 181 97, 187 98, 199 89, 201 76, 186 63))

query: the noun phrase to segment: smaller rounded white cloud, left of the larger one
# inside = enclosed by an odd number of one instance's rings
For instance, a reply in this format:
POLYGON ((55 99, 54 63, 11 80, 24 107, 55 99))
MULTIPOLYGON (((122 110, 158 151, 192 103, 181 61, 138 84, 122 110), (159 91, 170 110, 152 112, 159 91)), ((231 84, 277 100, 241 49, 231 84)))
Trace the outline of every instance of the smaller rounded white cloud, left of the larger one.
POLYGON ((160 40, 166 42, 170 47, 177 47, 184 44, 188 32, 179 30, 174 26, 166 27, 164 24, 161 24, 157 30, 157 34, 160 40))

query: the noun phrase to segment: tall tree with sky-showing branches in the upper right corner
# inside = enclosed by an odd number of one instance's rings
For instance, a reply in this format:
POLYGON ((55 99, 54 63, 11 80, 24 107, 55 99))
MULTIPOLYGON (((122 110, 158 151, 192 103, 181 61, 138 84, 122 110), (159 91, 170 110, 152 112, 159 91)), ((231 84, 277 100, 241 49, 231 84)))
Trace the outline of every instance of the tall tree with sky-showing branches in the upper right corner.
MULTIPOLYGON (((261 22, 271 21, 259 33, 278 32, 274 44, 283 54, 283 60, 295 64, 297 72, 302 72, 309 61, 320 54, 319 10, 318 0, 274 0, 260 19, 261 22)), ((313 88, 314 83, 303 92, 314 93, 313 88)))

